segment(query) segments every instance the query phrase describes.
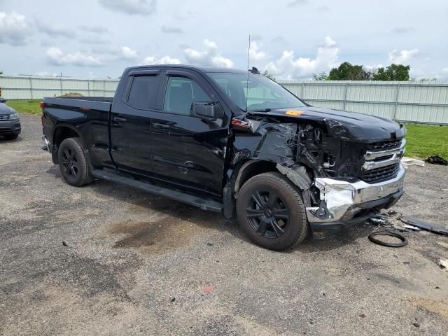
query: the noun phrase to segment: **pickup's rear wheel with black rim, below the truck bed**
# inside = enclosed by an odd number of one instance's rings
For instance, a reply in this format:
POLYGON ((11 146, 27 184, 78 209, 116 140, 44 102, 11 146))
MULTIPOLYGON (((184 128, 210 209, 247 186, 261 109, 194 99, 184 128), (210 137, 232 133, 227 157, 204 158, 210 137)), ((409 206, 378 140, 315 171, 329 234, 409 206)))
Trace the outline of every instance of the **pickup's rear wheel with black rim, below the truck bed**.
POLYGON ((57 162, 62 177, 69 185, 80 187, 93 181, 89 157, 79 138, 62 141, 57 152, 57 162))

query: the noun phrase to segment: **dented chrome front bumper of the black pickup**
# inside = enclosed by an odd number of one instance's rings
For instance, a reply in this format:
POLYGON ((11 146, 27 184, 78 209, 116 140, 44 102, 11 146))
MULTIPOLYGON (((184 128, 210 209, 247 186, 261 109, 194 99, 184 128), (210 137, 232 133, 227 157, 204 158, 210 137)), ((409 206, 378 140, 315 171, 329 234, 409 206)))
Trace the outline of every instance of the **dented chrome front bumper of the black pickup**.
MULTIPOLYGON (((310 223, 332 223, 350 221, 356 214, 370 206, 378 207, 388 204, 388 198, 402 190, 405 180, 405 168, 400 165, 394 179, 380 183, 356 181, 338 181, 335 179, 316 178, 314 186, 321 190, 321 201, 325 201, 325 211, 322 207, 307 207, 307 218, 310 223), (379 201, 379 202, 374 202, 379 201)), ((398 195, 398 198, 401 196, 398 195)), ((395 202, 398 200, 395 197, 395 202)), ((322 205, 322 204, 321 204, 322 205)), ((390 205, 389 205, 390 207, 390 205)))

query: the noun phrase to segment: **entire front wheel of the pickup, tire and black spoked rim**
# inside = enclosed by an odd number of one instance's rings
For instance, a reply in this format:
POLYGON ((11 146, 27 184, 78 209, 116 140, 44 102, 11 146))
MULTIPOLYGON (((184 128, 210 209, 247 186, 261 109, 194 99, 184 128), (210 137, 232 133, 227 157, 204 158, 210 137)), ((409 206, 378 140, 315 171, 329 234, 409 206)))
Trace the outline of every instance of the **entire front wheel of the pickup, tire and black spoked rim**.
POLYGON ((274 251, 297 246, 308 222, 300 191, 278 172, 253 176, 237 196, 237 216, 248 237, 274 251))

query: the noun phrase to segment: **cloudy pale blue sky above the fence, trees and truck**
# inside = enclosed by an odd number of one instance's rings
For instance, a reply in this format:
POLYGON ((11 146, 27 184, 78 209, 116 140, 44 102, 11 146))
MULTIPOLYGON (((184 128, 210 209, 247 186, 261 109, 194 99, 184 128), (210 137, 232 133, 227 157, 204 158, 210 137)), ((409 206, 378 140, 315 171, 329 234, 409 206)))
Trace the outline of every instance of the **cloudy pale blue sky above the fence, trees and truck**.
POLYGON ((448 79, 448 0, 0 0, 0 71, 118 78, 199 64, 311 78, 342 62, 448 79))

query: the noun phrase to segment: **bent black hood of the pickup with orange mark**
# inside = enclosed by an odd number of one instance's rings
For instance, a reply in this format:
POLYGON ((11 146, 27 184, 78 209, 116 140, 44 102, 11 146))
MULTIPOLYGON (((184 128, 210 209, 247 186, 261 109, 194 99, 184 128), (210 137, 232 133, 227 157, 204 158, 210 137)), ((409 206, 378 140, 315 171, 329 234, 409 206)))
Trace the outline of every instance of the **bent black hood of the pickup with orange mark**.
POLYGON ((400 139, 405 136, 404 126, 393 120, 368 116, 362 113, 304 106, 297 109, 277 109, 269 112, 249 112, 246 118, 274 117, 290 123, 317 122, 325 124, 328 134, 347 141, 374 142, 400 139), (297 111, 297 112, 291 112, 297 111))

